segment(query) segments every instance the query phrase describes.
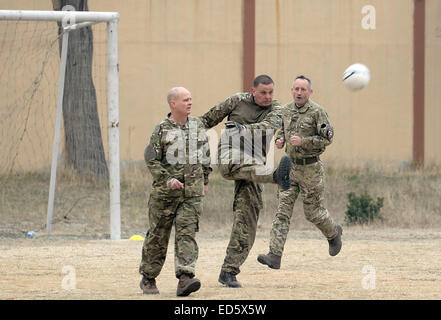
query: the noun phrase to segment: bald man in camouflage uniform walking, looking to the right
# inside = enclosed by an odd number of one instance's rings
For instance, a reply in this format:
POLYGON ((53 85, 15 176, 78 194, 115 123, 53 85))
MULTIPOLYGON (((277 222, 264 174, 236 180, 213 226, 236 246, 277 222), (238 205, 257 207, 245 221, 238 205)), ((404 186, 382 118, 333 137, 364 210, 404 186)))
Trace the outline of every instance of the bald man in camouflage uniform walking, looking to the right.
POLYGON ((175 274, 178 296, 197 291, 194 278, 198 258, 195 235, 199 228, 202 197, 211 171, 209 145, 199 118, 189 116, 191 94, 182 87, 168 94, 171 112, 159 123, 144 158, 153 177, 149 229, 142 248, 139 272, 144 294, 159 293, 155 278, 164 264, 172 226, 175 226, 175 274))

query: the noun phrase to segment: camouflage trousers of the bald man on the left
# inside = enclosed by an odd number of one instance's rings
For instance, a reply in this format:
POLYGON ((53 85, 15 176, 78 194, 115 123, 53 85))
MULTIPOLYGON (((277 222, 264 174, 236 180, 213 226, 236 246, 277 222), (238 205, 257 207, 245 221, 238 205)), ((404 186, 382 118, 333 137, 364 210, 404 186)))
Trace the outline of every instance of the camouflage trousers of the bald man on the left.
POLYGON ((139 273, 156 278, 164 265, 171 229, 175 227, 175 274, 194 276, 199 248, 195 239, 199 231, 201 197, 149 199, 149 229, 142 247, 139 273))

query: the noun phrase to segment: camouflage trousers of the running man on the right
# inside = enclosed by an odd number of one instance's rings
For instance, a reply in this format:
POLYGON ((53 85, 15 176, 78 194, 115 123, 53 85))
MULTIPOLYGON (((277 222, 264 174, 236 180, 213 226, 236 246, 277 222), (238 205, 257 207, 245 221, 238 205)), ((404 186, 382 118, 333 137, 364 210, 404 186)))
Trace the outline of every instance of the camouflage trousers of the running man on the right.
POLYGON ((279 189, 279 206, 270 233, 270 252, 281 256, 293 213, 294 203, 299 194, 303 198, 303 210, 308 221, 312 222, 328 239, 337 235, 337 224, 323 206, 324 168, 318 161, 309 165, 293 165, 290 173, 291 188, 279 189))

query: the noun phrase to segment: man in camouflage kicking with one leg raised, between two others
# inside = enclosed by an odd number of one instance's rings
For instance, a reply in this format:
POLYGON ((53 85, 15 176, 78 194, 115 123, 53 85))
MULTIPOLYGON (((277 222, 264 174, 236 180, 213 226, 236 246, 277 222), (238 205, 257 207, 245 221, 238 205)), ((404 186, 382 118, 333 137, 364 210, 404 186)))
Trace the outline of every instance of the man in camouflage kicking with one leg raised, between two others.
MULTIPOLYGON (((272 79, 266 75, 258 76, 254 80, 251 93, 237 93, 227 98, 205 113, 201 120, 207 128, 214 127, 225 118, 239 124, 251 124, 262 121, 275 106, 280 106, 277 101, 273 100, 273 91, 274 83, 272 79)), ((269 131, 274 132, 274 130, 269 131)), ((261 148, 258 151, 262 158, 266 158, 267 148, 269 147, 266 134, 267 132, 263 132, 262 141, 259 143, 259 146, 252 144, 251 148, 249 148, 253 151, 256 151, 255 149, 258 147, 261 148)), ((265 175, 259 174, 256 171, 259 165, 244 164, 242 161, 239 163, 224 162, 225 158, 228 160, 228 156, 225 157, 222 150, 222 140, 219 144, 219 171, 224 178, 234 180, 235 189, 233 228, 226 250, 226 257, 219 275, 219 282, 228 287, 238 288, 241 287, 241 284, 237 281, 236 275, 240 272, 239 267, 245 262, 253 246, 257 221, 263 206, 262 186, 260 183, 283 184, 282 182, 288 181, 289 187, 291 163, 288 161, 289 164, 284 166, 282 162, 282 165, 275 172, 271 169, 265 175), (283 179, 283 177, 286 179, 283 179)), ((249 144, 250 141, 253 143, 256 141, 245 140, 245 144, 249 144)), ((245 149, 247 149, 246 146, 245 149)), ((228 153, 231 150, 231 146, 224 150, 228 153)))

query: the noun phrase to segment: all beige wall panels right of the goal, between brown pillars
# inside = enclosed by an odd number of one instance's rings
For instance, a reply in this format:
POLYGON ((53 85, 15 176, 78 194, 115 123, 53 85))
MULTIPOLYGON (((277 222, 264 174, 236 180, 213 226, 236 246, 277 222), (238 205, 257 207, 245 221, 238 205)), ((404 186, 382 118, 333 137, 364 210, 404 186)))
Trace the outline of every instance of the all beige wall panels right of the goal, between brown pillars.
MULTIPOLYGON (((0 0, 1 9, 51 10, 49 0, 0 0)), ((141 160, 169 88, 193 94, 193 114, 242 90, 242 3, 238 0, 89 0, 118 11, 121 159, 141 160)), ((292 100, 293 78, 312 79, 312 99, 328 111, 335 142, 324 156, 340 166, 412 161, 412 0, 256 0, 256 75, 276 98, 292 100), (362 8, 375 8, 373 30, 362 8), (359 92, 341 82, 350 64, 371 71, 359 92)), ((441 1, 426 1, 426 161, 441 164, 441 1)), ((250 84, 251 86, 251 84, 250 84)), ((217 128, 218 130, 220 129, 217 128)), ((107 132, 104 132, 107 134, 107 132)))

